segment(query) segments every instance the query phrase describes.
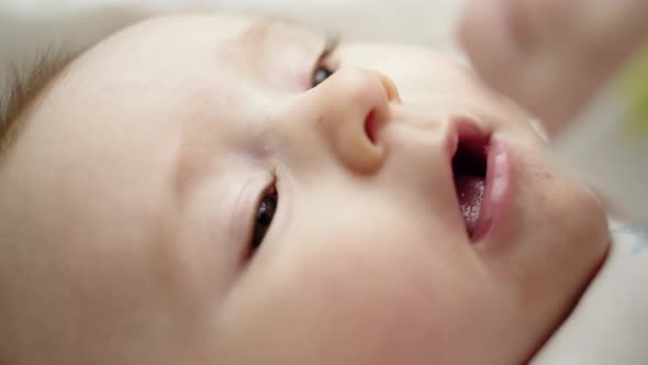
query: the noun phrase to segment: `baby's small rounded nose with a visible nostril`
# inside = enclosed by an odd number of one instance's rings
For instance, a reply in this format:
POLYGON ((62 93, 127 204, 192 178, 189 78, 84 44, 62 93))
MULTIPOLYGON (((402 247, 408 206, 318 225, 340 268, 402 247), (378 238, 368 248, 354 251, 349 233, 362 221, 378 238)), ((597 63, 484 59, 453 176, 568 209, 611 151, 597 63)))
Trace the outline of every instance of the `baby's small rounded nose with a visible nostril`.
POLYGON ((400 102, 394 82, 371 70, 342 69, 312 90, 320 112, 314 132, 345 167, 376 172, 384 159, 380 130, 390 119, 390 103, 400 102))

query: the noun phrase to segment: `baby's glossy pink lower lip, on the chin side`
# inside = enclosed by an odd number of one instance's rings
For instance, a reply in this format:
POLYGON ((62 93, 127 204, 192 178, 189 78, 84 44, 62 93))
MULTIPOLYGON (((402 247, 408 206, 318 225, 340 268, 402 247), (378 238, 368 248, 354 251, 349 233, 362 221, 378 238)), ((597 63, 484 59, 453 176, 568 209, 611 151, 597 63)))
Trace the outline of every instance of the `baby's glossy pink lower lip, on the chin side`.
POLYGON ((502 141, 491 140, 487 157, 485 191, 481 214, 472 234, 479 243, 502 221, 512 193, 511 152, 502 141))

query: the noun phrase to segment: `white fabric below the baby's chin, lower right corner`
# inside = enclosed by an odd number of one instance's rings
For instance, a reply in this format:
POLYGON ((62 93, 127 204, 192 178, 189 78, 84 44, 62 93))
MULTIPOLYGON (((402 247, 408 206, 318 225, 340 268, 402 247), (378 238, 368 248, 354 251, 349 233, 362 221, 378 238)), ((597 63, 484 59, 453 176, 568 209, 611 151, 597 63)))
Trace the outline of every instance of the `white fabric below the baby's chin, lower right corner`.
POLYGON ((607 261, 533 365, 648 364, 648 234, 612 232, 607 261))

